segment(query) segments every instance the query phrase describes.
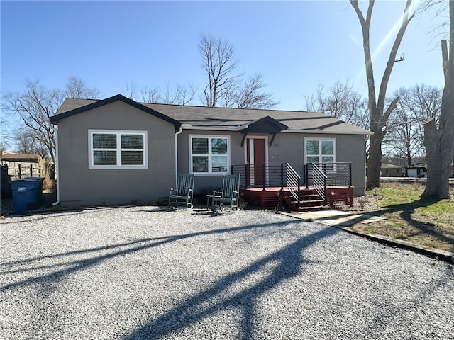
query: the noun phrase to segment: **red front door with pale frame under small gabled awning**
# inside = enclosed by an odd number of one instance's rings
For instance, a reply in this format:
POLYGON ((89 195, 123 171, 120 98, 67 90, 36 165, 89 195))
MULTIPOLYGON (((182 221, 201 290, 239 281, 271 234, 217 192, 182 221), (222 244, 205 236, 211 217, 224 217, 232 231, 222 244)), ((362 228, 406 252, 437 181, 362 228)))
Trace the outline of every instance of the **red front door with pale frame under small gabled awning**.
POLYGON ((249 164, 248 184, 261 186, 264 181, 265 170, 265 139, 246 138, 246 164, 249 164))

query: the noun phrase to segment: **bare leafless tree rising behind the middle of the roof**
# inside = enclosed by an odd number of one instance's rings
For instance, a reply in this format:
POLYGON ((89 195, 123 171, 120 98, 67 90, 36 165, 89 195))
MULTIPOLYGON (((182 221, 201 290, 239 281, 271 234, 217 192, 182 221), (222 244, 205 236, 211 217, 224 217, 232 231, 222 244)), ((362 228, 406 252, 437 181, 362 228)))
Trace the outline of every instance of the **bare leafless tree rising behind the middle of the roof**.
POLYGON ((272 108, 277 105, 272 95, 263 91, 265 81, 262 74, 245 80, 243 74, 235 73, 238 59, 228 42, 201 35, 199 53, 208 78, 202 99, 206 106, 272 108))

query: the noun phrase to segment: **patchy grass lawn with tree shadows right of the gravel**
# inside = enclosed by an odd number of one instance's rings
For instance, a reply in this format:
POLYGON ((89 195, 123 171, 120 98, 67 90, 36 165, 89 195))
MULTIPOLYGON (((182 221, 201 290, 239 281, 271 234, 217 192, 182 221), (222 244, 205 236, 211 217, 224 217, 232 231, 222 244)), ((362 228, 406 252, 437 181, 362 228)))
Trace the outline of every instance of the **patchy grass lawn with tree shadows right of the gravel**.
POLYGON ((382 183, 381 188, 367 191, 365 199, 375 200, 377 206, 361 212, 387 220, 353 229, 454 252, 454 190, 452 200, 438 202, 419 200, 422 192, 420 183, 382 183))

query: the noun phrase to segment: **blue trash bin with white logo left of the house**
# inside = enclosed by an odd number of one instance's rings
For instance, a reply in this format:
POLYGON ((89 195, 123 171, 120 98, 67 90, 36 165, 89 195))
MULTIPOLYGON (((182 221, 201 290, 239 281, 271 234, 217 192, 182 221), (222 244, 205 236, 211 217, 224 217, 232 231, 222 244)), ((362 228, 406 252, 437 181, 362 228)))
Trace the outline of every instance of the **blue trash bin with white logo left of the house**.
POLYGON ((11 181, 11 190, 13 191, 14 210, 33 210, 40 205, 40 197, 43 196, 43 181, 29 179, 11 181))

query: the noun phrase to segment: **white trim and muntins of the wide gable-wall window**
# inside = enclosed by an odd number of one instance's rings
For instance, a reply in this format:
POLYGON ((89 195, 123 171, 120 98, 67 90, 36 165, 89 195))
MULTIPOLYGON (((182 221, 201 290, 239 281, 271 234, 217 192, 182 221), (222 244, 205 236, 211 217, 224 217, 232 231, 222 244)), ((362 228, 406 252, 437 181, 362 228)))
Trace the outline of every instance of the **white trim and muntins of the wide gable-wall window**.
MULTIPOLYGON (((123 151, 128 149, 123 149, 123 151)), ((146 130, 88 130, 88 169, 148 169, 148 132, 146 130), (116 134, 116 153, 117 165, 94 165, 93 158, 93 135, 95 133, 116 134), (134 151, 143 150, 143 164, 141 165, 122 165, 121 164, 121 135, 143 135, 143 149, 134 149, 134 151), (119 163, 119 164, 118 164, 119 163)))

